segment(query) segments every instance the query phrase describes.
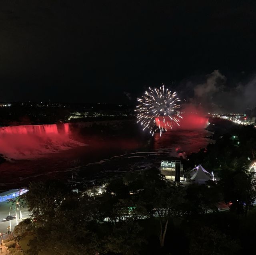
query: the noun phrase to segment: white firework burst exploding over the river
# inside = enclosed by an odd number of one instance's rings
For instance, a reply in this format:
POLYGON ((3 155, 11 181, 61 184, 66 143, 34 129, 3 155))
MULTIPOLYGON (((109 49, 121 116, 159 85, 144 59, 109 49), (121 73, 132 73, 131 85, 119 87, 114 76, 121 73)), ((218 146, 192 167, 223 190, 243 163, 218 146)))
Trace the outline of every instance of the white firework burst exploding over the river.
POLYGON ((150 130, 150 134, 154 135, 156 130, 168 130, 173 125, 179 126, 180 118, 178 109, 180 105, 178 102, 176 92, 171 92, 162 85, 159 89, 148 88, 145 96, 138 98, 139 105, 136 107, 137 123, 142 125, 143 130, 146 128, 150 130))

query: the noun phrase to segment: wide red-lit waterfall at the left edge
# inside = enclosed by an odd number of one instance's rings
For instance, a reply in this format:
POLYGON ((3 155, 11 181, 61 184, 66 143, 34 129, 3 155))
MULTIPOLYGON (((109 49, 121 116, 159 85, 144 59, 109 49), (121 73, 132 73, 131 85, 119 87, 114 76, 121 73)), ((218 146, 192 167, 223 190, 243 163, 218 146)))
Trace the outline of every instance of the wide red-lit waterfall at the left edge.
POLYGON ((7 158, 36 158, 72 147, 69 124, 0 127, 0 154, 7 158))

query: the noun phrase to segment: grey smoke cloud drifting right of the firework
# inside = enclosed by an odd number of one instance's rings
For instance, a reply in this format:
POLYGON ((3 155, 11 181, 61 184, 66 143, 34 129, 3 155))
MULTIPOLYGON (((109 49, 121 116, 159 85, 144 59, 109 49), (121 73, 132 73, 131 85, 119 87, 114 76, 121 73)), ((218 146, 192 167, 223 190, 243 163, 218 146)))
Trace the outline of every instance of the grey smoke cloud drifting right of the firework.
POLYGON ((203 78, 193 77, 191 80, 183 81, 180 87, 180 97, 196 109, 200 107, 208 112, 244 113, 256 107, 255 75, 251 79, 243 76, 235 79, 214 70, 203 78))

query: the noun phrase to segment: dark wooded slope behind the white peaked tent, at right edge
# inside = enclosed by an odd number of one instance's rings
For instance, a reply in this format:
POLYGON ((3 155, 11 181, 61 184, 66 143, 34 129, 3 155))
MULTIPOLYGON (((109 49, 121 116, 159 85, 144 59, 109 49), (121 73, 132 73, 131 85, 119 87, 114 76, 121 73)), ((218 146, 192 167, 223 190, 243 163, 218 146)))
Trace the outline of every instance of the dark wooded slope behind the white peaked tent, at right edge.
POLYGON ((253 125, 236 125, 218 132, 214 144, 208 144, 198 153, 191 154, 188 166, 203 164, 206 169, 218 172, 236 170, 250 165, 256 158, 256 128, 253 125))

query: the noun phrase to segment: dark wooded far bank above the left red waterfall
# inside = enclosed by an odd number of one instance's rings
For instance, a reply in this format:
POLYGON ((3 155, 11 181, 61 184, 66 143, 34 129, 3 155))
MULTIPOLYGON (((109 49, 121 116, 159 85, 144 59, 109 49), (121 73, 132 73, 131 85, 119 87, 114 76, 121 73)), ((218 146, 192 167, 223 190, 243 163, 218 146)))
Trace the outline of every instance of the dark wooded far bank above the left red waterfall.
POLYGON ((12 103, 0 107, 0 126, 53 124, 70 121, 72 113, 78 113, 77 121, 104 121, 134 119, 134 106, 106 104, 12 103))

